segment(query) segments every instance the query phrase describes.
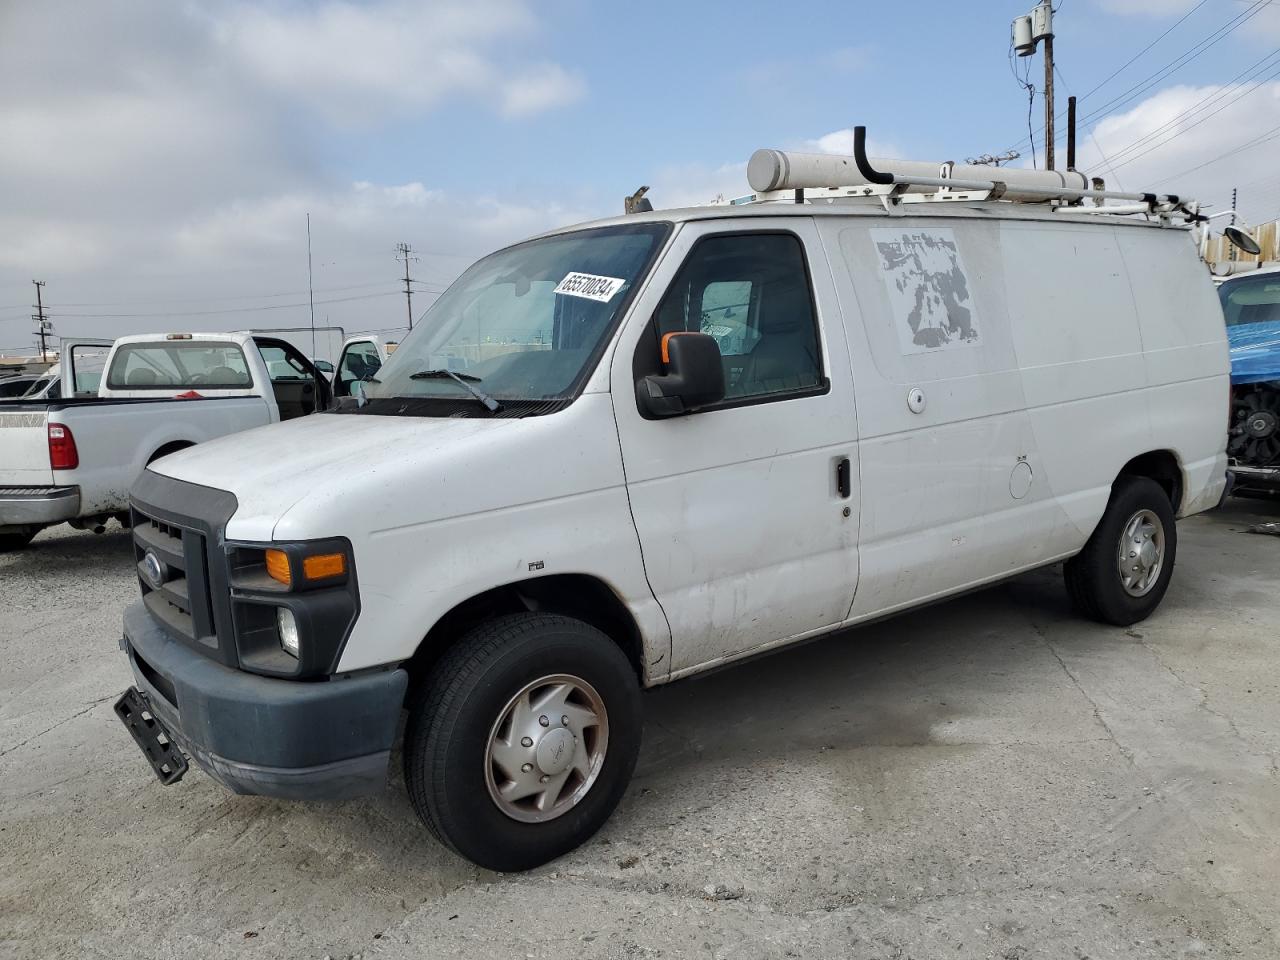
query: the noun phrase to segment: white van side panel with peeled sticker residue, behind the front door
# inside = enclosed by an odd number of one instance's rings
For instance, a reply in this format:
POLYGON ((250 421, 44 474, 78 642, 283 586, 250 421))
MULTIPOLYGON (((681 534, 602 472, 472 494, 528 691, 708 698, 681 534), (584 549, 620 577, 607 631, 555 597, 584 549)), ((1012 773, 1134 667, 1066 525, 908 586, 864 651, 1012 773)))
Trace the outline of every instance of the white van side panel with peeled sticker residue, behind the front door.
POLYGON ((1001 224, 947 212, 819 224, 849 332, 861 436, 861 576, 851 617, 1078 549, 1025 413, 1001 224), (923 326, 922 311, 963 316, 969 329, 931 340, 911 329, 923 326), (908 403, 913 389, 924 396, 919 412, 908 403))

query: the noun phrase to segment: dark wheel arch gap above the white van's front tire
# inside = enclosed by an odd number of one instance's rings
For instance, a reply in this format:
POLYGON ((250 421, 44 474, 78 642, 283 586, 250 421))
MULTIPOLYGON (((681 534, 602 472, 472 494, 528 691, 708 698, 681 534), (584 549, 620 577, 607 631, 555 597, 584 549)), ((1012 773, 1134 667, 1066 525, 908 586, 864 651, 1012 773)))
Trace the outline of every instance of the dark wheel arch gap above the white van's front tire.
POLYGON ((553 573, 495 586, 456 604, 428 630, 404 664, 410 686, 426 676, 471 627, 495 616, 526 611, 559 613, 590 623, 622 649, 640 682, 645 682, 640 626, 613 588, 590 573, 553 573))

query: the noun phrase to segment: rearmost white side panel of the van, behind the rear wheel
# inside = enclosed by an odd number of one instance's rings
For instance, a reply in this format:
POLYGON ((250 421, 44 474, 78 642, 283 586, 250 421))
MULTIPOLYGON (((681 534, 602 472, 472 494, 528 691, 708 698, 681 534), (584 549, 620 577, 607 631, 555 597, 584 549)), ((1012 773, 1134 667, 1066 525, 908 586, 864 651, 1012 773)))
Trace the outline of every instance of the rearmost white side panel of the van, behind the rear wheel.
POLYGON ((1226 468, 1230 356, 1217 293, 1181 230, 1116 232, 1147 366, 1152 449, 1183 468, 1179 516, 1217 506, 1226 468))

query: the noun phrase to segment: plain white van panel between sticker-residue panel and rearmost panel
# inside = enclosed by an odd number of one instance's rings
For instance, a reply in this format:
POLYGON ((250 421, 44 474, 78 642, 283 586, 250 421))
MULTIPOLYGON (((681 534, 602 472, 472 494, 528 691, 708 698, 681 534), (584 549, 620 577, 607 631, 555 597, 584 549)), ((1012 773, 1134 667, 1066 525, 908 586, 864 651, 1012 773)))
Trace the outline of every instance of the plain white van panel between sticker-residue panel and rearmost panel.
POLYGON ((1075 526, 1057 544, 1064 550, 1083 547, 1120 468, 1153 443, 1142 334, 1116 229, 1001 225, 1028 416, 1050 489, 1075 526))

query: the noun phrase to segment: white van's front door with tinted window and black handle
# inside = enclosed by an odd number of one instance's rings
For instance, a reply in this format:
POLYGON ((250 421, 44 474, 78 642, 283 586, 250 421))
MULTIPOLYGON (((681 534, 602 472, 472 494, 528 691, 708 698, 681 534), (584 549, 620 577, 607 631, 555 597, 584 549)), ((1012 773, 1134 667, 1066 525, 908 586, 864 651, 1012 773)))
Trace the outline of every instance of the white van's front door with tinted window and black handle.
POLYGON ((685 225, 636 302, 611 381, 672 673, 844 621, 858 582, 856 417, 813 221, 685 225), (646 419, 635 381, 660 370, 673 330, 717 339, 727 397, 646 419))

